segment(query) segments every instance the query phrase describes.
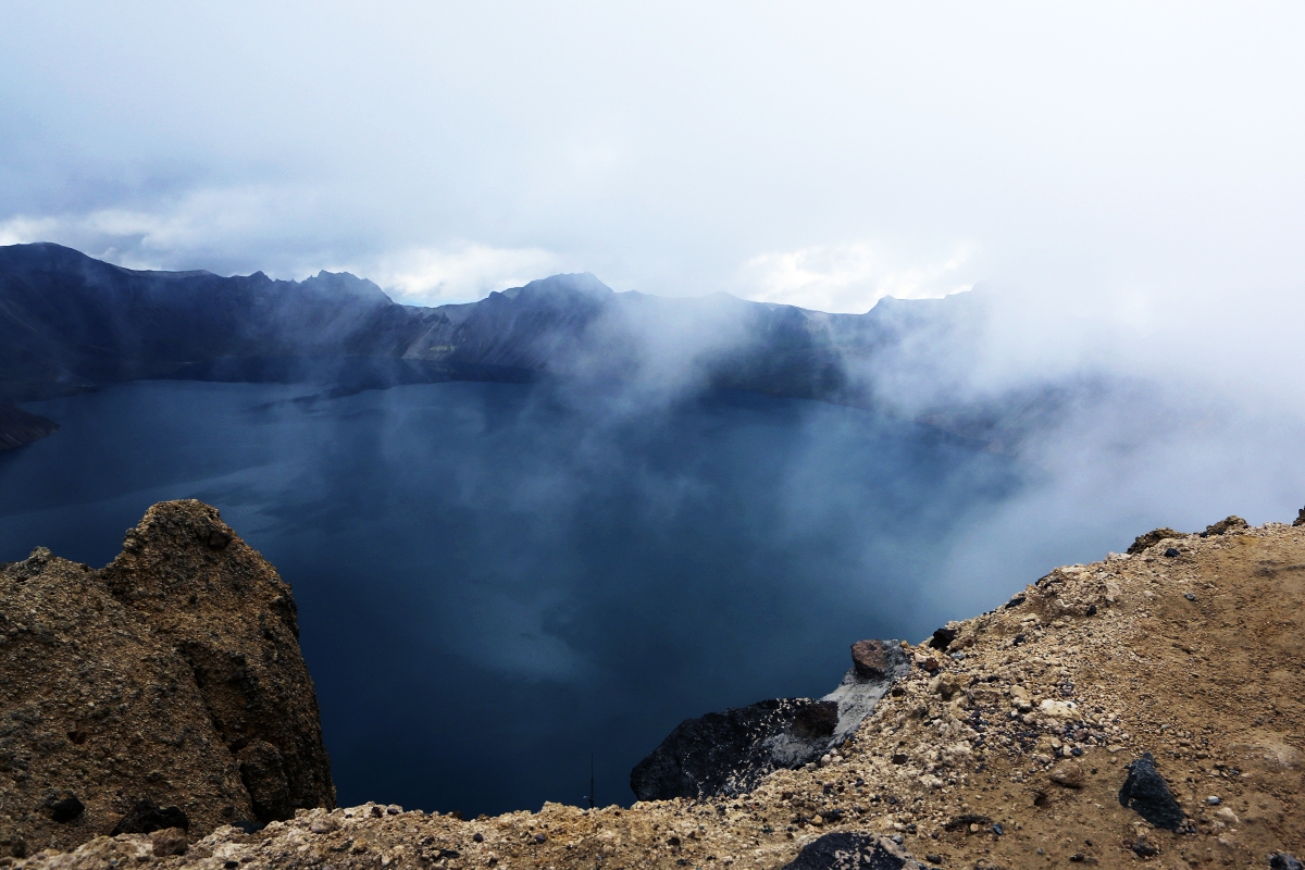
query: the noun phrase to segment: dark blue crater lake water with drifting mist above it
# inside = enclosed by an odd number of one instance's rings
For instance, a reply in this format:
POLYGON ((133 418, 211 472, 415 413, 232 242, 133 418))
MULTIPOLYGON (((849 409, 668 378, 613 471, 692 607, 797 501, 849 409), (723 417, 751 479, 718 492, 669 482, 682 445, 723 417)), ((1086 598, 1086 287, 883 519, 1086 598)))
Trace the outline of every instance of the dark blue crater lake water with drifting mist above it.
POLYGON ((294 586, 346 805, 577 803, 591 753, 598 801, 628 803, 680 720, 823 694, 852 642, 957 616, 930 578, 1018 487, 933 429, 740 393, 141 382, 25 407, 63 429, 0 454, 0 561, 103 565, 150 503, 218 506, 294 586))

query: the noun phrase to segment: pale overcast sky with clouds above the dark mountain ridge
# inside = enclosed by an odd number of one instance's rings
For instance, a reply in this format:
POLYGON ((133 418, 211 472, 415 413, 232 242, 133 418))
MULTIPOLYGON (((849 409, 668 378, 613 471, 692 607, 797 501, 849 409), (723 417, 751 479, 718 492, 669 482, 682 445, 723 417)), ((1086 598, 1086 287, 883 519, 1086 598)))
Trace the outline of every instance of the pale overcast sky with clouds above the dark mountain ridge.
POLYGON ((1146 334, 1300 299, 1302 44, 1271 3, 12 3, 0 243, 1146 334))

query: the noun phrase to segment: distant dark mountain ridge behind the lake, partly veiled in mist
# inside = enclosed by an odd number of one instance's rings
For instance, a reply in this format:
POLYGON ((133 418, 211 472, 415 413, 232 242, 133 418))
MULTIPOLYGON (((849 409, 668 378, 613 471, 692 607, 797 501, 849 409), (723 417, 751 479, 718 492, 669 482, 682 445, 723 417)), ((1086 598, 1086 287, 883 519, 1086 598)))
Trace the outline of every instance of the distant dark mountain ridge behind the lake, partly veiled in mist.
MULTIPOLYGON (((968 295, 826 314, 716 293, 613 292, 553 275, 461 305, 394 303, 347 273, 138 271, 40 243, 0 247, 0 449, 54 423, 13 407, 142 378, 313 381, 335 391, 540 377, 724 387, 882 404, 877 355, 963 325, 968 295)), ((987 441, 1053 397, 957 407, 929 423, 987 441)))

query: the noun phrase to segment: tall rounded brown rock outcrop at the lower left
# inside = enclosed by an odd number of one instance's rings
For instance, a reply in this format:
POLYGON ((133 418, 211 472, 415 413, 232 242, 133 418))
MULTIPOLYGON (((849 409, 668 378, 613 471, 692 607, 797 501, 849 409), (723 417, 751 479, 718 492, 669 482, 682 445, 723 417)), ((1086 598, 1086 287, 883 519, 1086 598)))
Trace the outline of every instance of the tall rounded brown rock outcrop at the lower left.
POLYGON ((294 599, 196 501, 0 567, 0 857, 334 806, 294 599))

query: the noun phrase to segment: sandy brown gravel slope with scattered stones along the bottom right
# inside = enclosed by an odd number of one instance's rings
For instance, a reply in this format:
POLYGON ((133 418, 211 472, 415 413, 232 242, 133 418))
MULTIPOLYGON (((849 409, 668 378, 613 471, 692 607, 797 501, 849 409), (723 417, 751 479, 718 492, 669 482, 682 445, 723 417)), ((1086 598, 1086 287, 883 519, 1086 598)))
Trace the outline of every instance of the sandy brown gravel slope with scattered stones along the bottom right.
POLYGON ((1300 854, 1305 527, 1148 544, 1056 569, 911 647, 916 667, 850 742, 739 798, 475 820, 368 803, 256 833, 98 837, 17 863, 722 870, 787 865, 830 832, 889 840, 801 866, 915 866, 907 853, 976 869, 1268 867, 1300 854), (1137 783, 1131 806, 1120 801, 1146 753, 1176 798, 1168 822, 1143 818, 1137 783))

